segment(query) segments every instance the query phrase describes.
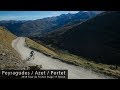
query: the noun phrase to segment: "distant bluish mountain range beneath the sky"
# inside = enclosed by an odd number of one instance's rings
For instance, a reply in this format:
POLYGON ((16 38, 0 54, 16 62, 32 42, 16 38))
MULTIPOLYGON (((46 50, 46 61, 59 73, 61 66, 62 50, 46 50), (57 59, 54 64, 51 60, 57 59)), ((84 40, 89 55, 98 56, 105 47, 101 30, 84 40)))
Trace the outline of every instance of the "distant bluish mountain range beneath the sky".
POLYGON ((84 21, 95 17, 96 13, 93 11, 80 11, 76 14, 62 14, 55 17, 47 17, 37 20, 28 21, 0 21, 1 26, 8 28, 13 34, 17 36, 42 36, 48 32, 54 31, 65 24, 74 21, 84 21))

